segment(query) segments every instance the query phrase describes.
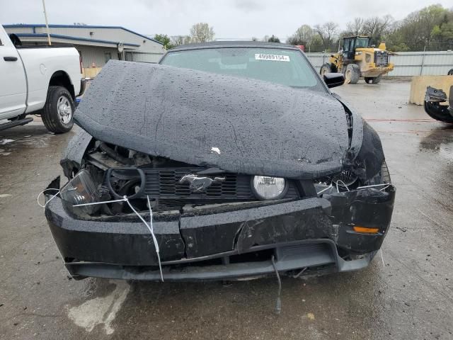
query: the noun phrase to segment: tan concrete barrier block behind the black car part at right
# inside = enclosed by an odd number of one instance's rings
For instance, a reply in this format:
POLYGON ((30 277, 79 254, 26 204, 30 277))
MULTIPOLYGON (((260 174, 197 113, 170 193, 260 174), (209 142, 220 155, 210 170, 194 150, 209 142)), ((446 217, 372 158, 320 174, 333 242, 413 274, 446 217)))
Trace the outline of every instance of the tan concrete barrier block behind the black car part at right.
POLYGON ((450 86, 453 86, 453 76, 416 76, 411 81, 409 103, 423 105, 425 92, 428 86, 442 89, 448 95, 450 86))

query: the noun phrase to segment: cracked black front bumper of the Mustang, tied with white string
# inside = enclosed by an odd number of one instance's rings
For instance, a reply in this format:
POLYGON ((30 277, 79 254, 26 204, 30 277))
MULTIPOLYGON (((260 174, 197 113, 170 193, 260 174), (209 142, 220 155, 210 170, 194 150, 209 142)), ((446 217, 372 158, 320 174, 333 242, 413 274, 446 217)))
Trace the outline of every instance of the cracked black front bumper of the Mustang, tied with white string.
MULTIPOLYGON (((277 270, 367 266, 391 220, 395 191, 362 189, 206 215, 156 216, 164 280, 265 276, 277 270), (354 225, 377 227, 357 234, 354 225)), ((159 280, 154 244, 142 222, 75 220, 55 198, 45 209, 52 235, 74 278, 159 280)))

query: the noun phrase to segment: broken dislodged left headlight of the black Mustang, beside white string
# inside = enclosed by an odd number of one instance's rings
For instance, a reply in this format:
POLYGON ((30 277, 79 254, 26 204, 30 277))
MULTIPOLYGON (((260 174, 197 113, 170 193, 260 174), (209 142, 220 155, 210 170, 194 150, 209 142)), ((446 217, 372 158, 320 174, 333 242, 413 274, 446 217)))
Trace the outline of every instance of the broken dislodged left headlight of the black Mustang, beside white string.
POLYGON ((74 176, 74 179, 71 179, 71 181, 62 188, 59 195, 61 196, 63 205, 67 211, 74 212, 75 214, 91 214, 100 207, 100 205, 74 207, 74 205, 95 203, 99 200, 96 195, 96 185, 86 169, 79 171, 76 176, 74 176))

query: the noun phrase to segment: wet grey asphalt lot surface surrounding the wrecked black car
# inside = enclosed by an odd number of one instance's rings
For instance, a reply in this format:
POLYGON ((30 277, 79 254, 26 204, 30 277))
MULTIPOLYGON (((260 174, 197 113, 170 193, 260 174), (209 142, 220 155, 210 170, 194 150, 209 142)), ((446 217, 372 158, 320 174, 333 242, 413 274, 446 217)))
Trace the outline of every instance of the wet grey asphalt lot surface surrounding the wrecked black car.
POLYGON ((283 278, 280 315, 275 278, 70 280, 36 197, 74 132, 0 132, 0 339, 453 339, 453 125, 409 105, 409 86, 335 89, 382 138, 391 229, 365 270, 283 278))

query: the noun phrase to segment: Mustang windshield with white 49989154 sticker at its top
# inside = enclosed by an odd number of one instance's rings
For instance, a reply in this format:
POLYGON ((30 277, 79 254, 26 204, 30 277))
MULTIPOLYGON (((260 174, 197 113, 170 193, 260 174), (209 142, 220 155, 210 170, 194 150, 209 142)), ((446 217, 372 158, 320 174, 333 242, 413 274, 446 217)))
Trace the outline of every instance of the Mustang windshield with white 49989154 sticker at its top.
POLYGON ((255 47, 183 50, 168 52, 161 64, 326 92, 306 57, 297 50, 255 47))

